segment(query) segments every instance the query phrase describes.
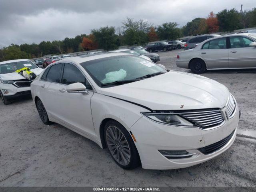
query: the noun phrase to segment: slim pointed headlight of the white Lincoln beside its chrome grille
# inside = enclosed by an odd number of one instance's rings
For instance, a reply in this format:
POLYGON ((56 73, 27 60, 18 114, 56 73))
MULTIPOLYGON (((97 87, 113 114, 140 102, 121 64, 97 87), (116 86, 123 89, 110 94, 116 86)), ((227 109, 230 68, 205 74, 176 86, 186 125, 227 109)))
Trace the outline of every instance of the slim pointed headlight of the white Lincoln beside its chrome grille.
POLYGON ((164 124, 176 125, 176 126, 193 126, 192 123, 186 119, 174 115, 174 114, 154 114, 154 113, 142 113, 147 118, 164 124))

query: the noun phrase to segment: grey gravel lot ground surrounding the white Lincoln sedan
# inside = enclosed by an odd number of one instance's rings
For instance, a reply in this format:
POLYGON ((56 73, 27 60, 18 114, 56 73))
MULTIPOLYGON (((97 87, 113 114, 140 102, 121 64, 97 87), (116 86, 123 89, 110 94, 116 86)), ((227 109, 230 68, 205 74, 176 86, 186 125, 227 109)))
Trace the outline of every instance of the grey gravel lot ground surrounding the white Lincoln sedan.
MULTIPOLYGON (((179 51, 159 52, 158 64, 190 72, 176 67, 179 51)), ((32 99, 23 98, 0 102, 0 186, 256 186, 256 70, 203 76, 227 86, 242 111, 236 141, 217 158, 178 170, 123 170, 94 142, 44 125, 32 99)))

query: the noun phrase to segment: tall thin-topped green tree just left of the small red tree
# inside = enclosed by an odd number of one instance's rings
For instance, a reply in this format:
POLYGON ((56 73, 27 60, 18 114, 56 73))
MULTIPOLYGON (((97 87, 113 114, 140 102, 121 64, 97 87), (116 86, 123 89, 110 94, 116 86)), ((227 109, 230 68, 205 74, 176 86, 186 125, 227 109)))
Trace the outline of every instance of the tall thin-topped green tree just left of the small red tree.
POLYGON ((152 24, 144 20, 134 20, 127 18, 122 22, 124 41, 128 45, 143 45, 148 42, 148 32, 152 24))

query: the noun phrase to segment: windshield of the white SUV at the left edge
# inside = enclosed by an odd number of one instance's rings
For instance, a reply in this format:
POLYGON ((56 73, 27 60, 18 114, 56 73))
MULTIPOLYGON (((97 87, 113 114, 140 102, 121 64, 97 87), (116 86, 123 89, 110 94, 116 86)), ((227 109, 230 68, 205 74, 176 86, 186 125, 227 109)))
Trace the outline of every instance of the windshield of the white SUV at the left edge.
POLYGON ((0 64, 0 74, 13 73, 16 70, 19 70, 24 67, 28 67, 30 69, 37 68, 37 66, 31 61, 11 62, 11 63, 0 64))

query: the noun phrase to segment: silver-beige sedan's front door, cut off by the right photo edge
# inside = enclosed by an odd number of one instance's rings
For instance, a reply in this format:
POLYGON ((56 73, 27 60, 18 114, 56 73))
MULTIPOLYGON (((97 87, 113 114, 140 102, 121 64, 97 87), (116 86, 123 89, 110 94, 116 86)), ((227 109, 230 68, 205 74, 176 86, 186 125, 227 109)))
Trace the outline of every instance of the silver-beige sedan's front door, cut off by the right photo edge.
POLYGON ((249 44, 254 42, 244 36, 231 36, 229 51, 230 68, 252 68, 256 67, 256 48, 249 44))

